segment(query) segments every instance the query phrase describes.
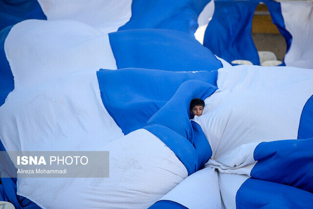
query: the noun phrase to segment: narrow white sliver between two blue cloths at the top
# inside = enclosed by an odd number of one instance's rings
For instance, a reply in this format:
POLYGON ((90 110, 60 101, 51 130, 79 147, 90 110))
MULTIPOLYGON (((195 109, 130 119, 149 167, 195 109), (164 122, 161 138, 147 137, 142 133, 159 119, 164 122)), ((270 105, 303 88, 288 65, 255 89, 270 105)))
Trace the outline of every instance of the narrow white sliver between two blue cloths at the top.
POLYGON ((214 8, 215 8, 214 0, 211 0, 208 4, 206 4, 206 6, 204 7, 204 9, 202 10, 198 17, 199 26, 197 31, 195 32, 195 37, 202 45, 206 27, 213 17, 214 8))

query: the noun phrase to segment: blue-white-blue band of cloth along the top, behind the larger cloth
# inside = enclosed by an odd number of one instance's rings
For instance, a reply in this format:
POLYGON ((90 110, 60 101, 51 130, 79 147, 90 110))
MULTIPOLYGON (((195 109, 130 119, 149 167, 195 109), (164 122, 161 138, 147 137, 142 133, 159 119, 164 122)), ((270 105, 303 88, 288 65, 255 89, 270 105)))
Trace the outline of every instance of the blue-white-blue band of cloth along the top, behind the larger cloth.
MULTIPOLYGON (((193 35, 198 16, 208 14, 210 0, 4 0, 0 2, 0 30, 23 20, 72 20, 103 32, 158 28, 193 35)), ((203 21, 201 21, 203 23, 203 21)))

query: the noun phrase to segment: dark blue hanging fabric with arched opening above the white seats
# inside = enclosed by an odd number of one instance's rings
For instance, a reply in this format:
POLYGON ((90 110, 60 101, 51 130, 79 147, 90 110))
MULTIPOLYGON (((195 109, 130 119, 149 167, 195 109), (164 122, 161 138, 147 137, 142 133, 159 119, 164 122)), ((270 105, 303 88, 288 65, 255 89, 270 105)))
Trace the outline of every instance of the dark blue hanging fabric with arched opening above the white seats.
MULTIPOLYGON (((251 37, 252 18, 256 6, 264 2, 272 22, 284 36, 288 52, 292 36, 285 27, 279 2, 272 0, 216 0, 215 12, 209 22, 203 46, 231 63, 233 60, 249 60, 260 65, 257 48, 251 37)), ((282 66, 285 66, 283 62, 282 66)))

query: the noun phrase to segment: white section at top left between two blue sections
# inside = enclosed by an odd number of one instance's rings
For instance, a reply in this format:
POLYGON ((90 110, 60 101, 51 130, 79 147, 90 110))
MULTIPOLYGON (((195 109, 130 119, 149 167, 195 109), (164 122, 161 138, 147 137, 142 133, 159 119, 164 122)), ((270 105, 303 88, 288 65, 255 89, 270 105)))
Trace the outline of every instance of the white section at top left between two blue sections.
POLYGON ((75 20, 103 33, 117 31, 132 16, 132 0, 38 0, 47 20, 75 20))

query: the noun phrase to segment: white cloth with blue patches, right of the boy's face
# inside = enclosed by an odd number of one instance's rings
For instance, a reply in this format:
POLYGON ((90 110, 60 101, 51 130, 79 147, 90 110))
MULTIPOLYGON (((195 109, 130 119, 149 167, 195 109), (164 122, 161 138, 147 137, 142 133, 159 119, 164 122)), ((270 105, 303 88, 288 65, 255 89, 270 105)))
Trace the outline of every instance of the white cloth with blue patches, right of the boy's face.
POLYGON ((194 120, 212 147, 206 166, 220 172, 226 208, 312 207, 312 82, 307 69, 219 70, 220 89, 194 120))

